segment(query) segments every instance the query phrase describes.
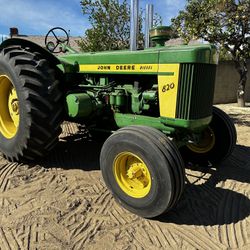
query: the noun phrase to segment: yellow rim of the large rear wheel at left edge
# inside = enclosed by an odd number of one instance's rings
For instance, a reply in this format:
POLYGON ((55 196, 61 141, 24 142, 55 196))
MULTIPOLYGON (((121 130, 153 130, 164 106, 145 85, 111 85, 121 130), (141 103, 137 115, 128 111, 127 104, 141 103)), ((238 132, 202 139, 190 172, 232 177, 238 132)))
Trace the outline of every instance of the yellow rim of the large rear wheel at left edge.
POLYGON ((19 102, 10 78, 0 75, 0 133, 13 138, 19 126, 19 102))

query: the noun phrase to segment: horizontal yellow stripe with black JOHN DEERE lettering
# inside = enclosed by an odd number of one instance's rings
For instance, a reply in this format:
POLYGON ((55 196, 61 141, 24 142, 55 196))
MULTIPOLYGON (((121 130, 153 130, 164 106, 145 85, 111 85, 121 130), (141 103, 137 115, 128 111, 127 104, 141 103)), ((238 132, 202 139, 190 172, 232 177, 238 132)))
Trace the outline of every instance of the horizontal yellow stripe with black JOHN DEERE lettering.
POLYGON ((81 72, 157 73, 158 64, 82 64, 81 72))

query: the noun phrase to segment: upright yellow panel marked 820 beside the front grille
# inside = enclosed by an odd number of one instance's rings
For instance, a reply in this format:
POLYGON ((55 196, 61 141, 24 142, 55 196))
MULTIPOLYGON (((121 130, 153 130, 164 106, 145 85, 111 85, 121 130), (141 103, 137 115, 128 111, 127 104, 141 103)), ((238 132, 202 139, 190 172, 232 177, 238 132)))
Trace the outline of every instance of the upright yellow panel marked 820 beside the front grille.
POLYGON ((159 72, 173 72, 173 75, 158 76, 160 115, 175 118, 180 64, 159 65, 159 72))

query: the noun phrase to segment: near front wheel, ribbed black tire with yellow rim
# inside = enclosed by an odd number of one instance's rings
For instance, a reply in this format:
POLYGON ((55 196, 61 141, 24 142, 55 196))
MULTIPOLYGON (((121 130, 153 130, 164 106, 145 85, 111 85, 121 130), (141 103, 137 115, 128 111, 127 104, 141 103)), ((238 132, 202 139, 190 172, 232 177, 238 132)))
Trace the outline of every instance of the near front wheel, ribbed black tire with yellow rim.
POLYGON ((161 132, 144 126, 118 130, 104 143, 100 165, 107 187, 127 210, 152 218, 167 212, 184 187, 184 163, 161 132))

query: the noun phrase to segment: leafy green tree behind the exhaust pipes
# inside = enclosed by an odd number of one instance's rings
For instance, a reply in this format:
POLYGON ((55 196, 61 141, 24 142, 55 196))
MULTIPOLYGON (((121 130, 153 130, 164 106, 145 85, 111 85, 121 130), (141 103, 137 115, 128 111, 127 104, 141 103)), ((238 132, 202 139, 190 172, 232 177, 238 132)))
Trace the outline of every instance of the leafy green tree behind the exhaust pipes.
MULTIPOLYGON (((91 28, 80 42, 83 51, 126 49, 130 37, 130 7, 126 0, 82 0, 91 28)), ((142 18, 139 20, 139 44, 143 44, 142 18)))

